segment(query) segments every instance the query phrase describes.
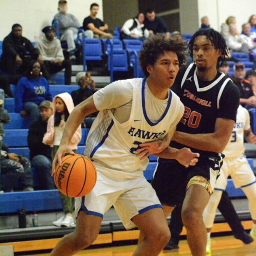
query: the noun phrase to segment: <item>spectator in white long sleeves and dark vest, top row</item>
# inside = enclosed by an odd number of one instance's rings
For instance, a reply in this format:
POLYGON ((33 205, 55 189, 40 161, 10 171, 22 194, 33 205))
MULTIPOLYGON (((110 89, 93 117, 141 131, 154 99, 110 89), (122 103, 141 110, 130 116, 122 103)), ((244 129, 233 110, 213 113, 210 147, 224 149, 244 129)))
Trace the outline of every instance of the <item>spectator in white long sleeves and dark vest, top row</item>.
POLYGON ((139 39, 144 40, 148 38, 149 31, 144 26, 145 16, 139 13, 135 18, 124 22, 121 29, 121 39, 139 39))

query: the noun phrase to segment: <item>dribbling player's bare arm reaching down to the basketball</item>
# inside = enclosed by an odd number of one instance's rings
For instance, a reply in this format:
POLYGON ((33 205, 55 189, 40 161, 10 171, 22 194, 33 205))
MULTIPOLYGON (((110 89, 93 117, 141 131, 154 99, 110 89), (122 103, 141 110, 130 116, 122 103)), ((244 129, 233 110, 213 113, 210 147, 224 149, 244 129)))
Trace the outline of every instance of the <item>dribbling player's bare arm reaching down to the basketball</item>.
POLYGON ((74 152, 69 147, 69 142, 71 141, 79 125, 82 123, 87 115, 97 111, 98 110, 94 105, 93 96, 90 96, 88 99, 77 105, 70 113, 60 142, 60 147, 56 152, 53 160, 52 176, 55 173, 55 167, 57 163, 61 164, 61 157, 63 157, 66 153, 74 154, 74 152))

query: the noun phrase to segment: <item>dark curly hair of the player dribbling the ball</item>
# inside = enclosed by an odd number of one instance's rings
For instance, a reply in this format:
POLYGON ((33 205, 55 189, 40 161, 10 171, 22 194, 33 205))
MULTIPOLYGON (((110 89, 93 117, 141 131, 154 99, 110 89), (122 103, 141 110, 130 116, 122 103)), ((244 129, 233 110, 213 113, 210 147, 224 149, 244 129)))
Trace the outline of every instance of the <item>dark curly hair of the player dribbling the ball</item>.
POLYGON ((148 65, 154 66, 157 59, 165 52, 175 52, 178 57, 179 66, 185 64, 185 50, 187 43, 177 39, 165 39, 163 35, 157 34, 143 43, 140 51, 140 65, 146 78, 149 76, 148 65))

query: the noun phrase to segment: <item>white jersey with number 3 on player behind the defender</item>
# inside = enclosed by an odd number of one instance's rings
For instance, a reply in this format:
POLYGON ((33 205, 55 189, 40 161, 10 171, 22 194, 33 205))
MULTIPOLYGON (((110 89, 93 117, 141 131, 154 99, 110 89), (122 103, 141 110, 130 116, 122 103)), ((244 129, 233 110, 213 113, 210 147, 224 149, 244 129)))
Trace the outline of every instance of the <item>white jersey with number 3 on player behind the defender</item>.
POLYGON ((239 105, 236 123, 223 154, 225 157, 239 156, 244 152, 244 130, 250 129, 250 115, 247 109, 239 105))

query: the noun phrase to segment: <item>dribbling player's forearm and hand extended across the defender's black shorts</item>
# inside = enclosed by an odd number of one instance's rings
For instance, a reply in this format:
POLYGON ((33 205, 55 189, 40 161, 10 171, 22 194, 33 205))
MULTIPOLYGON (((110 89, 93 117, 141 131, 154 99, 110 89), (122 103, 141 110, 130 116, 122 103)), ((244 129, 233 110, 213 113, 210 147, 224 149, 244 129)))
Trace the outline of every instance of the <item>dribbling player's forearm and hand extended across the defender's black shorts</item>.
POLYGON ((199 153, 193 153, 190 148, 172 148, 168 147, 159 154, 155 154, 158 157, 166 159, 175 159, 185 167, 194 166, 198 162, 199 153))

